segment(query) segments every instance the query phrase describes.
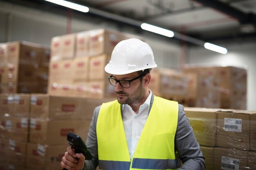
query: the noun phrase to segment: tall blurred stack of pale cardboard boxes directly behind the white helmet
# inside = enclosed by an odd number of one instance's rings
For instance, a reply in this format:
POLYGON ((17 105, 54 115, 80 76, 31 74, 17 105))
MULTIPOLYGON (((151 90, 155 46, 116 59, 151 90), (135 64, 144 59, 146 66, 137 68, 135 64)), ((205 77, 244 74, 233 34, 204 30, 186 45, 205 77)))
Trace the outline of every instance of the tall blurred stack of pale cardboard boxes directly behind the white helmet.
POLYGON ((108 81, 110 75, 104 68, 117 43, 134 37, 106 29, 53 37, 49 94, 115 98, 114 87, 108 81))

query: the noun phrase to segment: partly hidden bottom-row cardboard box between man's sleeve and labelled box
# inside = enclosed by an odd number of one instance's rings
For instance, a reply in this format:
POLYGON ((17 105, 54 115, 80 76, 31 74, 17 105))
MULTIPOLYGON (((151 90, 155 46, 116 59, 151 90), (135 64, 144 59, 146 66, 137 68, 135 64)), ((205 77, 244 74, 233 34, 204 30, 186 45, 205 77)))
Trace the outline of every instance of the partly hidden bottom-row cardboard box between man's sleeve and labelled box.
POLYGON ((206 147, 206 146, 200 146, 202 153, 205 157, 205 170, 214 170, 213 168, 213 162, 214 162, 214 157, 213 157, 213 147, 206 147))

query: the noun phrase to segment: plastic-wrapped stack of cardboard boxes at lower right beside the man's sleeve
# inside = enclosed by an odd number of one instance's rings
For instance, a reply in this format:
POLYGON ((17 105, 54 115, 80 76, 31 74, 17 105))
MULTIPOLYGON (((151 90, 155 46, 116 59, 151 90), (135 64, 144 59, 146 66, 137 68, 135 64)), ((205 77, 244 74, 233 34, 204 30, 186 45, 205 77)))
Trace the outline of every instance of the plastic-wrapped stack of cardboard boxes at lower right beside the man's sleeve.
POLYGON ((256 168, 256 111, 185 107, 207 170, 256 168))

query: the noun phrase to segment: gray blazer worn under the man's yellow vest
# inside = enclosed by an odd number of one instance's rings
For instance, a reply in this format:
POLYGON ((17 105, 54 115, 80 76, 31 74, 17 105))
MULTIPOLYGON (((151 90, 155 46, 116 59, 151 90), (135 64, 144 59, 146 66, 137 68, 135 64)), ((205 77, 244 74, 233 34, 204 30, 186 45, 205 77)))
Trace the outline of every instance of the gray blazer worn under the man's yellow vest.
MULTIPOLYGON (((154 101, 154 95, 152 95, 149 107, 152 107, 154 101)), ((101 106, 98 106, 94 109, 92 122, 90 124, 88 137, 86 140, 86 145, 92 153, 93 159, 88 161, 85 160, 85 166, 83 170, 95 170, 99 164, 98 159, 98 145, 97 145, 97 134, 96 134, 96 125, 97 119, 99 116, 99 109, 101 106)), ((123 108, 123 107, 121 107, 123 108)), ((121 111, 122 113, 122 111, 121 111)), ((195 139, 193 129, 189 124, 189 120, 186 118, 184 108, 179 104, 179 116, 177 122, 177 130, 175 134, 175 150, 179 153, 180 159, 182 161, 182 166, 178 170, 204 170, 204 156, 200 150, 200 146, 195 139)))

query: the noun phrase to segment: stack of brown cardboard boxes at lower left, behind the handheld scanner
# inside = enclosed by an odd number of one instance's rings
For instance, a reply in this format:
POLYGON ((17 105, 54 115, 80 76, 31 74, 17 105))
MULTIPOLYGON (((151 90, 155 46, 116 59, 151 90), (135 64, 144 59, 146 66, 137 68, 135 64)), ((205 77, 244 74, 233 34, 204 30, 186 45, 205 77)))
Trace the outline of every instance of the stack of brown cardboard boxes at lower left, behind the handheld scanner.
POLYGON ((93 110, 109 100, 1 94, 1 170, 56 170, 69 146, 67 133, 85 141, 93 110))

